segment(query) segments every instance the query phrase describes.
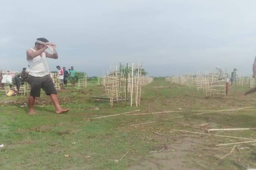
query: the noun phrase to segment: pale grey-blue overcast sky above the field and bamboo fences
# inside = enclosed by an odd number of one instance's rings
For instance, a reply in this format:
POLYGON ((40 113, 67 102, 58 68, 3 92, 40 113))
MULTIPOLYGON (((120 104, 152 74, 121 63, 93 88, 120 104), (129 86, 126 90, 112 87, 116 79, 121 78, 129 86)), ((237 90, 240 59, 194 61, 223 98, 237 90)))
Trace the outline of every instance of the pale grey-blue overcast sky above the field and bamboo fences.
POLYGON ((26 67, 36 38, 57 44, 56 65, 100 76, 142 61, 151 76, 213 71, 250 75, 255 0, 8 0, 0 3, 0 69, 26 67))

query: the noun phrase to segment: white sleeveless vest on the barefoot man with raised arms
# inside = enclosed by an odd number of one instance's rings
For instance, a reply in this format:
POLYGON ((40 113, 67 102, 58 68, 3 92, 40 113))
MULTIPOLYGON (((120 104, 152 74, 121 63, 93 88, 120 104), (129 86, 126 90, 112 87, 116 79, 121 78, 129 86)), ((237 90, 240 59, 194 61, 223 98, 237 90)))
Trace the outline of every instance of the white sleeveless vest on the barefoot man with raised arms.
MULTIPOLYGON (((33 48, 30 49, 32 49, 35 52, 33 48)), ((42 52, 42 57, 38 55, 33 59, 27 61, 29 64, 29 75, 35 77, 43 77, 49 74, 49 67, 46 62, 45 52, 42 52)))

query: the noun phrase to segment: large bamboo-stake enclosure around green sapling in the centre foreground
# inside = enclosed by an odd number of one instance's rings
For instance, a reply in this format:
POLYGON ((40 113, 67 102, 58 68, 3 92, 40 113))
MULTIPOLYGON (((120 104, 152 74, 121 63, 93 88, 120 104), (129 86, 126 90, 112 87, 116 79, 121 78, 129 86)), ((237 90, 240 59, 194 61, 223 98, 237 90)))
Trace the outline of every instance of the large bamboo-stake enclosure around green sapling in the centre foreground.
POLYGON ((107 72, 101 78, 98 78, 98 83, 105 87, 105 91, 110 98, 110 106, 113 107, 113 102, 119 101, 125 102, 125 105, 140 106, 141 89, 147 84, 153 81, 152 77, 146 77, 141 75, 142 64, 138 65, 126 64, 110 67, 110 71, 107 72), (129 102, 129 103, 128 103, 129 102))

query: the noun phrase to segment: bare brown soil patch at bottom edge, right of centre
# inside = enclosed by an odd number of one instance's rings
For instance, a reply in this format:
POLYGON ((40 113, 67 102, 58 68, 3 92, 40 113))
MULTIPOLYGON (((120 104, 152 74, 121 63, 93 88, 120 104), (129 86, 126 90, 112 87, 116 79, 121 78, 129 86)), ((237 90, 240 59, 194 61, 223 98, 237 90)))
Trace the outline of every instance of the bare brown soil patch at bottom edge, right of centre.
POLYGON ((130 166, 128 170, 200 170, 200 163, 203 160, 198 158, 195 161, 195 159, 188 157, 193 147, 197 145, 189 140, 198 143, 200 141, 190 137, 184 139, 163 145, 162 148, 165 149, 161 151, 160 147, 157 149, 158 152, 149 153, 151 154, 150 159, 142 161, 139 165, 130 166))

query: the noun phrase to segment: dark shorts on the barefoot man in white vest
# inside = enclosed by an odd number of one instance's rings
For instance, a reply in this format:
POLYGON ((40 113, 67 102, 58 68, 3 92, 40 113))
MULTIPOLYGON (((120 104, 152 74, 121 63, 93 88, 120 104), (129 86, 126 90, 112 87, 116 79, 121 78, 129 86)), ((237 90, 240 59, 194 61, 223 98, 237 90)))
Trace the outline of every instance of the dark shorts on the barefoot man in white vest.
POLYGON ((40 97, 41 88, 44 90, 46 95, 57 94, 57 90, 54 87, 52 78, 50 75, 43 77, 35 77, 29 75, 29 84, 30 84, 30 96, 40 97))

